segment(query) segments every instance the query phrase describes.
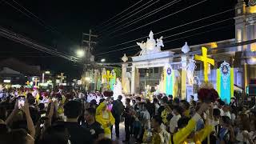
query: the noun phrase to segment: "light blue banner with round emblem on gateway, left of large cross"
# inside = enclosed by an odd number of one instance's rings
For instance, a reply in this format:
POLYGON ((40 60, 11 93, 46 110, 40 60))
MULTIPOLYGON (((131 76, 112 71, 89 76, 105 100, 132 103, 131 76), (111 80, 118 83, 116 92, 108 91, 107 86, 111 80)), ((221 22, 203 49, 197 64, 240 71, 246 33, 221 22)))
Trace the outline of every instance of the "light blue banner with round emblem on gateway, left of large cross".
POLYGON ((171 66, 166 68, 166 94, 169 95, 173 95, 173 91, 174 91, 174 73, 172 71, 171 66))

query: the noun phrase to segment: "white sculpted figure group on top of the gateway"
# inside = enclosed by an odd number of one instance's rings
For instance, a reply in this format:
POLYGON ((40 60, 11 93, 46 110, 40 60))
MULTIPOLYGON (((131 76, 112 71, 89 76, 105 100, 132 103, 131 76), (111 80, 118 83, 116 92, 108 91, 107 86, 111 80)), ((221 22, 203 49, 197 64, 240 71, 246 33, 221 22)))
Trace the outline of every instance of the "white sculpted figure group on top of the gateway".
POLYGON ((139 55, 154 54, 156 52, 160 52, 161 47, 164 46, 162 37, 155 41, 152 31, 150 31, 149 38, 147 38, 146 42, 137 42, 137 45, 142 49, 139 55))

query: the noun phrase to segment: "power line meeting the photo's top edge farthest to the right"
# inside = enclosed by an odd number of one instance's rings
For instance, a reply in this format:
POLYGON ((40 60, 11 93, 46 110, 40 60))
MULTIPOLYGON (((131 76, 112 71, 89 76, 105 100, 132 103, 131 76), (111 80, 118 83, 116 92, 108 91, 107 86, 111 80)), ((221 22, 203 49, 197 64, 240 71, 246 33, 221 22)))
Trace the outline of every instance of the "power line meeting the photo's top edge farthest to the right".
POLYGON ((191 7, 198 6, 198 5, 201 4, 202 2, 206 2, 206 1, 208 1, 208 0, 203 0, 203 1, 201 1, 201 2, 197 2, 197 3, 195 3, 194 5, 188 6, 188 7, 184 8, 184 9, 182 9, 182 10, 178 10, 178 11, 172 13, 172 14, 168 14, 168 15, 162 17, 162 18, 158 18, 157 20, 154 20, 153 22, 146 23, 146 24, 143 25, 143 26, 138 26, 137 28, 135 28, 135 29, 133 29, 133 30, 126 31, 126 32, 124 32, 124 33, 122 33, 122 34, 116 34, 116 35, 114 35, 113 37, 110 37, 110 38, 115 38, 115 37, 118 37, 118 36, 120 36, 120 35, 130 33, 130 32, 132 32, 132 31, 134 31, 134 30, 141 29, 142 27, 149 26, 150 24, 152 24, 152 23, 154 23, 154 22, 158 22, 158 21, 160 21, 160 20, 162 20, 162 19, 164 19, 164 18, 168 18, 168 17, 170 17, 170 16, 172 16, 172 15, 174 15, 174 14, 178 14, 179 12, 182 12, 182 11, 184 11, 184 10, 190 9, 191 7))

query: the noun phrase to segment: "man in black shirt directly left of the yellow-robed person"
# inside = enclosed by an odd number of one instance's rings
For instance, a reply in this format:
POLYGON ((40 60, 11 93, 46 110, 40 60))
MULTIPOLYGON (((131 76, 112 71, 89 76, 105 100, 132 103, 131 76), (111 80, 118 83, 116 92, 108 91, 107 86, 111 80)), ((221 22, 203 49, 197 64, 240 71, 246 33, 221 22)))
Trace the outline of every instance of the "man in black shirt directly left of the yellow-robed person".
POLYGON ((86 120, 84 127, 90 130, 90 134, 92 135, 94 141, 96 141, 97 139, 104 138, 103 126, 95 121, 95 114, 96 110, 91 107, 87 108, 84 114, 86 120))

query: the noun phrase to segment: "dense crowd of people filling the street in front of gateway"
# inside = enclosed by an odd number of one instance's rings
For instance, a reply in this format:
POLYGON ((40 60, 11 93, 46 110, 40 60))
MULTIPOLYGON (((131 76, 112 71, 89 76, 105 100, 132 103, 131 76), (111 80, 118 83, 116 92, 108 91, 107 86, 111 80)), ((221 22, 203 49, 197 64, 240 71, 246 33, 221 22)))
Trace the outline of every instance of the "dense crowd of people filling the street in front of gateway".
POLYGON ((158 94, 153 99, 119 95, 114 100, 100 93, 2 89, 0 143, 256 142, 254 102, 246 105, 231 98, 226 103, 211 88, 199 90, 197 102, 190 99, 158 94), (123 120, 126 138, 120 139, 123 120))

